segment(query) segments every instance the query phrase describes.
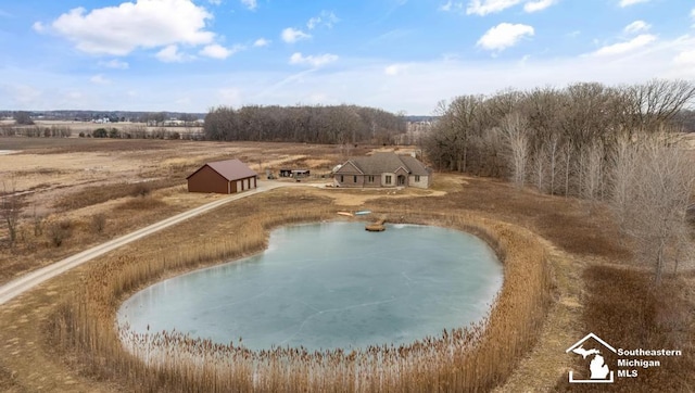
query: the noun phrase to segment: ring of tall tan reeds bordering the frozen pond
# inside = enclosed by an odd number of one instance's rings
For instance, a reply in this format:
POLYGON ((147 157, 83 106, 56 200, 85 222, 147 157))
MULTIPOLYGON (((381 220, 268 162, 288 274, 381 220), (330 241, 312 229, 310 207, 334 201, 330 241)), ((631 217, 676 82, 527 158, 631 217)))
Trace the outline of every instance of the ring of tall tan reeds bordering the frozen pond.
POLYGON ((482 321, 407 345, 364 350, 250 351, 242 342, 217 344, 177 332, 137 334, 115 326, 128 293, 172 271, 239 258, 266 246, 279 225, 334 217, 328 206, 253 214, 236 236, 194 237, 157 257, 125 255, 91 270, 51 318, 52 341, 71 351, 98 378, 136 391, 486 391, 502 383, 531 350, 552 291, 546 252, 532 233, 472 214, 377 212, 414 224, 473 232, 495 249, 505 281, 482 321))

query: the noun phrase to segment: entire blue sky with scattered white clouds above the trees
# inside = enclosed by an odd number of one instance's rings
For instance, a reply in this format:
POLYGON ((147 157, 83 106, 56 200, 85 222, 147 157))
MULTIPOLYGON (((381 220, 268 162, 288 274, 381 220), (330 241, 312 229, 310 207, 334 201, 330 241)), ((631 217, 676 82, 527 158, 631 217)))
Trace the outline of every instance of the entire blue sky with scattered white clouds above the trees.
POLYGON ((695 79, 692 0, 0 0, 0 109, 207 112, 695 79))

